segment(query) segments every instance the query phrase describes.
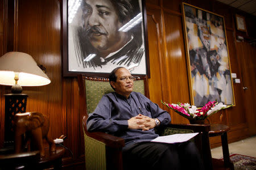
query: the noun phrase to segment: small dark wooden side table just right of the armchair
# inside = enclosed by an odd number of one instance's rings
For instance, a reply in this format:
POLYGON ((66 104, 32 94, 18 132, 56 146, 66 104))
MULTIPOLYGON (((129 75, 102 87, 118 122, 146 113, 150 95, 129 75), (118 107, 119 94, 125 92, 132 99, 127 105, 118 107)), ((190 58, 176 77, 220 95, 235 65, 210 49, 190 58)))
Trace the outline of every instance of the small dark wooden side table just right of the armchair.
POLYGON ((228 146, 228 135, 227 135, 227 131, 229 130, 230 130, 229 126, 222 125, 222 124, 211 124, 209 137, 216 137, 218 135, 221 135, 224 167, 234 170, 234 164, 230 161, 230 158, 229 158, 229 146, 228 146))

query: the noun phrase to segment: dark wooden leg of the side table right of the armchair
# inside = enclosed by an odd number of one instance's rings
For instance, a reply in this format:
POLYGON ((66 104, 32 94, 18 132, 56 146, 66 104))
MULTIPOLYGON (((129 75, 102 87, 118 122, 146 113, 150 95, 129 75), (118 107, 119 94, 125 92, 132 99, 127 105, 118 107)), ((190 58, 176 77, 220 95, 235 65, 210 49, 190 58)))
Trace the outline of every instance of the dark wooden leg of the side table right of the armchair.
POLYGON ((232 170, 234 170, 234 164, 230 161, 230 158, 229 158, 228 135, 226 134, 226 132, 221 135, 221 143, 222 143, 224 165, 225 167, 229 167, 232 170))

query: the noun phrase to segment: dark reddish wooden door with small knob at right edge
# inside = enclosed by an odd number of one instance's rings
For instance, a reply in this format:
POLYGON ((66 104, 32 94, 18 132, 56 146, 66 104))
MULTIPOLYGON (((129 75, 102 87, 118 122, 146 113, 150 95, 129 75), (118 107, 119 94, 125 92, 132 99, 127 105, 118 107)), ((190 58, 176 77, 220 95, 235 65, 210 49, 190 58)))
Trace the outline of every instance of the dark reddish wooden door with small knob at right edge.
POLYGON ((237 42, 236 43, 237 56, 240 61, 241 72, 242 72, 242 86, 247 87, 247 90, 243 90, 243 104, 245 107, 246 121, 249 126, 250 135, 256 134, 256 116, 255 116, 255 105, 256 105, 256 48, 255 46, 249 45, 248 42, 237 42))

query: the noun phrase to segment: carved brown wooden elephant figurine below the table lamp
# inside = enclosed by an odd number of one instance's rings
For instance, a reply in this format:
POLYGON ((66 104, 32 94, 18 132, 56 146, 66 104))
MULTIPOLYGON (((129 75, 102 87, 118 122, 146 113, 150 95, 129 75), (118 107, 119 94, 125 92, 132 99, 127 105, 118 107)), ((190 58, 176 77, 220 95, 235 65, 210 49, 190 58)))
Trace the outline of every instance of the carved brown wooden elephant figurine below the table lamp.
POLYGON ((14 116, 15 152, 19 153, 22 147, 22 135, 26 133, 26 140, 30 140, 31 150, 39 150, 44 156, 43 138, 49 143, 51 151, 55 151, 55 143, 49 137, 49 118, 38 112, 18 113, 14 116))

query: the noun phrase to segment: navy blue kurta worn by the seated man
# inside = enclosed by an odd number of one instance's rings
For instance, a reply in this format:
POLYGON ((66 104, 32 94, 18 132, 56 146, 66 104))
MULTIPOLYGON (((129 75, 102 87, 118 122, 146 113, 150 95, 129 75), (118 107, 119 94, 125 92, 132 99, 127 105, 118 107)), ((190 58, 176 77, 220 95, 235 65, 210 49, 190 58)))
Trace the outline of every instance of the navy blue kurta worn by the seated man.
POLYGON ((138 114, 158 118, 160 125, 171 121, 170 114, 152 103, 146 96, 131 92, 128 99, 116 92, 102 96, 95 111, 89 114, 88 131, 104 131, 125 139, 126 146, 134 142, 151 141, 158 137, 154 129, 128 129, 128 120, 138 114))

